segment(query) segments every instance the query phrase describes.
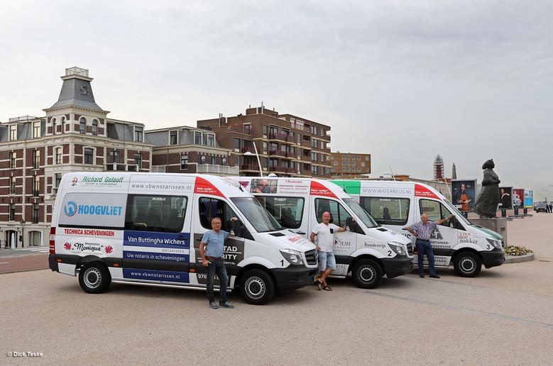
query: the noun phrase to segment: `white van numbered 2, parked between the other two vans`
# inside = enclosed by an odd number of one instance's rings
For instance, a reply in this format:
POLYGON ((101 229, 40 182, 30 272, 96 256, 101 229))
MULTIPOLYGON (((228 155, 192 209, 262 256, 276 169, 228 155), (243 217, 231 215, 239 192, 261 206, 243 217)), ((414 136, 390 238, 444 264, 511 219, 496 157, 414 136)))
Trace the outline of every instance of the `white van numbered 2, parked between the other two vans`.
POLYGON ((412 271, 410 240, 379 227, 336 184, 307 178, 232 179, 256 196, 280 225, 306 238, 322 221, 324 211, 329 211, 336 225, 349 227, 335 236, 333 277, 346 277, 351 272, 358 287, 370 289, 378 286, 383 275, 392 278, 412 271))

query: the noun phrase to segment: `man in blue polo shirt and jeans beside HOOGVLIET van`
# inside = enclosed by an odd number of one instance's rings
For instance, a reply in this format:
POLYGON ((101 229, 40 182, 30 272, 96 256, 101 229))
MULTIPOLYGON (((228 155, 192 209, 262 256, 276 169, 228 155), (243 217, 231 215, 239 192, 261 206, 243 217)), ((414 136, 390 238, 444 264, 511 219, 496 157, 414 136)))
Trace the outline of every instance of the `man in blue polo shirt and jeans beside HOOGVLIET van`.
MULTIPOLYGON (((235 221, 237 218, 231 218, 235 221)), ((199 255, 202 256, 202 265, 207 267, 207 300, 209 307, 217 309, 219 307, 232 309, 234 305, 226 302, 226 285, 229 283, 229 276, 226 275, 226 267, 223 262, 224 240, 229 237, 229 233, 221 230, 221 219, 212 218, 212 230, 206 231, 199 244, 199 255), (213 282, 215 271, 221 282, 219 286, 219 306, 215 303, 213 296, 213 282)))

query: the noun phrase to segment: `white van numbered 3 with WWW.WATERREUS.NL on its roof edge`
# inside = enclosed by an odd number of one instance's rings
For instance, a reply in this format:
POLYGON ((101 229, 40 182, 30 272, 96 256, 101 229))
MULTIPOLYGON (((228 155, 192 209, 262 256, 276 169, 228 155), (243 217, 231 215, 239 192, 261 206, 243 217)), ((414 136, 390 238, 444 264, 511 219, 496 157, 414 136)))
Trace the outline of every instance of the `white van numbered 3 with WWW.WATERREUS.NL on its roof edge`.
MULTIPOLYGON (((471 223, 442 194, 426 184, 371 180, 332 182, 354 197, 376 222, 403 233, 413 244, 415 238, 403 228, 420 221, 421 214, 427 214, 431 221, 453 215, 451 220, 437 226, 430 238, 436 267, 447 268, 453 264, 457 275, 475 277, 482 264, 491 268, 505 262, 501 235, 471 223)), ((417 265, 416 248, 413 262, 417 265)))

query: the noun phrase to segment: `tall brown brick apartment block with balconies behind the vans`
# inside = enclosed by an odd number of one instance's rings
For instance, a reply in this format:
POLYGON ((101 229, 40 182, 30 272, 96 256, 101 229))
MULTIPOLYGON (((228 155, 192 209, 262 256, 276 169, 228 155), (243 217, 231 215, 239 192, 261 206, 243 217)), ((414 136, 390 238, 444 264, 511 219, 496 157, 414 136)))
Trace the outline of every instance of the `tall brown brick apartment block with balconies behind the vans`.
POLYGON ((231 149, 229 165, 239 166, 240 175, 260 174, 257 150, 264 175, 331 177, 330 126, 322 123, 261 106, 245 115, 197 121, 197 127, 213 131, 217 143, 231 149))

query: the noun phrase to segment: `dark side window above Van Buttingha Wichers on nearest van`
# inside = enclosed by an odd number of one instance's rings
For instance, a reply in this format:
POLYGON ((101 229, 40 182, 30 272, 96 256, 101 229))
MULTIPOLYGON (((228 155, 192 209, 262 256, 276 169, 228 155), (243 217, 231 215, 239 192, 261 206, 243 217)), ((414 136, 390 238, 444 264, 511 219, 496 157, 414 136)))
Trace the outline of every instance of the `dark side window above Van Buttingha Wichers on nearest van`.
POLYGON ((186 196, 129 194, 125 228, 180 233, 185 223, 186 196))

